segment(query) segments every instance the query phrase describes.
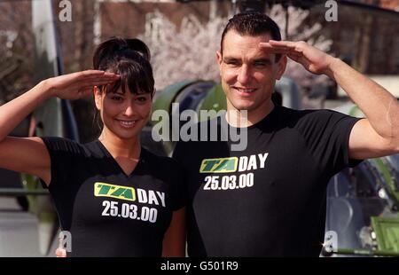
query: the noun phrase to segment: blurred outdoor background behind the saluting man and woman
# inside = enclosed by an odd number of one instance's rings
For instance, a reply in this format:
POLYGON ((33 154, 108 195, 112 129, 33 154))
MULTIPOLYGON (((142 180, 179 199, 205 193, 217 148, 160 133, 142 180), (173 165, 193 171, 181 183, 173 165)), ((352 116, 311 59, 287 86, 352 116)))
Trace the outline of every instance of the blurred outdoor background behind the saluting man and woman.
MULTIPOLYGON (((119 35, 143 39, 152 52, 155 109, 171 112, 172 102, 220 109, 215 51, 227 20, 246 10, 269 14, 283 39, 307 41, 399 97, 399 0, 0 0, 0 105, 44 78, 91 68, 98 43, 119 35)), ((363 115, 325 76, 310 75, 293 61, 285 76, 277 86, 283 105, 363 115)), ((98 137, 94 109, 92 98, 49 102, 13 135, 88 142, 98 137)), ((173 148, 144 142, 158 153, 173 148)), ((348 237, 339 247, 399 253, 398 163, 397 156, 371 160, 332 179, 326 232, 348 237), (372 216, 383 221, 372 222, 372 216)), ((37 179, 0 170, 0 256, 52 256, 58 231, 51 200, 37 179)), ((347 254, 357 255, 350 249, 347 254)))

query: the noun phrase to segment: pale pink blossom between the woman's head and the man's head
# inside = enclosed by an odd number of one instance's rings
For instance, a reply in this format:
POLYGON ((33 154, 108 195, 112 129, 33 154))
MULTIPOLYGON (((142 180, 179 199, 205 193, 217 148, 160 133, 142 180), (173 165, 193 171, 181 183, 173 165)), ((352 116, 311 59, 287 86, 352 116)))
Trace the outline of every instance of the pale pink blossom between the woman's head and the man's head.
POLYGON ((177 28, 160 12, 149 17, 145 34, 139 37, 151 49, 157 89, 184 79, 219 82, 215 52, 219 49, 225 18, 216 17, 202 24, 190 14, 177 28))

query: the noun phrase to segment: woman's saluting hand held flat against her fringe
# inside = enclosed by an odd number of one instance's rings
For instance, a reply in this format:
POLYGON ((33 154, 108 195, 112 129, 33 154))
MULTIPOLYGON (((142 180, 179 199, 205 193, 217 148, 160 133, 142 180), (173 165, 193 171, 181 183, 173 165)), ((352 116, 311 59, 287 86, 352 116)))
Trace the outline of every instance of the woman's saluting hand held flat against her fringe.
POLYGON ((119 78, 119 75, 113 73, 87 70, 51 77, 43 84, 46 90, 49 90, 50 96, 74 100, 89 96, 93 91, 93 86, 113 83, 119 78))

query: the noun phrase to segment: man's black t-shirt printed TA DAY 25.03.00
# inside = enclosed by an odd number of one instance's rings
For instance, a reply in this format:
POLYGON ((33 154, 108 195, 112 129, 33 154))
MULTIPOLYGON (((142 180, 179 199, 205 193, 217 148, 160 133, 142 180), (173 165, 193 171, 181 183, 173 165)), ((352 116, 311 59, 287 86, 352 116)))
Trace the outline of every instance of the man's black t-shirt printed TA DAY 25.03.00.
MULTIPOLYGON (((275 106, 246 128, 244 151, 231 151, 233 142, 220 134, 219 141, 178 142, 174 158, 188 185, 189 255, 319 255, 326 185, 359 162, 348 158, 357 120, 275 106)), ((201 123, 210 129, 212 122, 219 133, 227 125, 224 115, 201 123)))

